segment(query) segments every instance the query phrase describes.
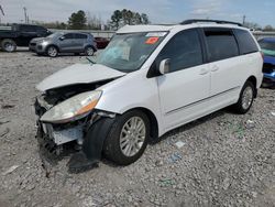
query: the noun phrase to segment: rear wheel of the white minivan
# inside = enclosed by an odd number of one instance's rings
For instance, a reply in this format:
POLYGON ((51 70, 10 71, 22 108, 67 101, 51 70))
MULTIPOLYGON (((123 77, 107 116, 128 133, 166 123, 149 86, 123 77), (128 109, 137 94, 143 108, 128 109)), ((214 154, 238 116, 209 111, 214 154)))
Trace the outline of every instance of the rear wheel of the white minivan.
POLYGON ((246 113, 254 101, 254 96, 255 86, 251 81, 246 81, 241 90, 238 102, 233 106, 234 111, 240 115, 246 113))

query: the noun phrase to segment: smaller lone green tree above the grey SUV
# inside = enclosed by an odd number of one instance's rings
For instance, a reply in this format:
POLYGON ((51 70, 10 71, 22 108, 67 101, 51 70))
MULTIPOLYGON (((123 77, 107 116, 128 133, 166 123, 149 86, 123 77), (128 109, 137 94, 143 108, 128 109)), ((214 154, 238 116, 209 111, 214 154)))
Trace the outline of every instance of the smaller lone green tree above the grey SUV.
POLYGON ((79 10, 76 13, 72 13, 68 20, 69 29, 73 30, 82 30, 86 28, 86 23, 87 23, 87 18, 86 13, 82 10, 79 10))

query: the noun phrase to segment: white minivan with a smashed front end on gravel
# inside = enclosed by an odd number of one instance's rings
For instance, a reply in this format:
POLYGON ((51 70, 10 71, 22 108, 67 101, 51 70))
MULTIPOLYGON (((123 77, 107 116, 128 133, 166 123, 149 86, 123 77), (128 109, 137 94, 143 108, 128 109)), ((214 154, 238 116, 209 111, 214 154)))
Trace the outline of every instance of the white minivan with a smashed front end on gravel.
POLYGON ((172 129, 228 106, 249 111, 262 66, 257 42, 238 23, 127 25, 96 63, 75 64, 37 85, 37 137, 53 152, 75 142, 72 167, 101 155, 128 165, 172 129))

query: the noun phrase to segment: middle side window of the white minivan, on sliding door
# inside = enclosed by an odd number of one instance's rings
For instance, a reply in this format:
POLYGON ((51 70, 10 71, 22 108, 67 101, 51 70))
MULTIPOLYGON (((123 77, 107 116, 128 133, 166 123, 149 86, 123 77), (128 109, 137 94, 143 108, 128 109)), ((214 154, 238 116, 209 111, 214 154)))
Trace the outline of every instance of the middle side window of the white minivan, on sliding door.
POLYGON ((221 61, 239 55, 239 48, 231 30, 205 30, 210 62, 221 61))

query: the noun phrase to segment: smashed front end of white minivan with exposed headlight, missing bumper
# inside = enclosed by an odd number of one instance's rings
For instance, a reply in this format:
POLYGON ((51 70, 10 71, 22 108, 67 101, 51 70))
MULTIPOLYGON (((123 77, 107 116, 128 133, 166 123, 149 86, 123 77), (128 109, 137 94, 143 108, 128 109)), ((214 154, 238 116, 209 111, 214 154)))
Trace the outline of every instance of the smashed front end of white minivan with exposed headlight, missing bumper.
POLYGON ((111 80, 48 89, 35 100, 40 145, 57 155, 64 146, 73 146, 70 170, 94 165, 101 159, 106 133, 116 115, 95 109, 102 94, 97 88, 111 80))

